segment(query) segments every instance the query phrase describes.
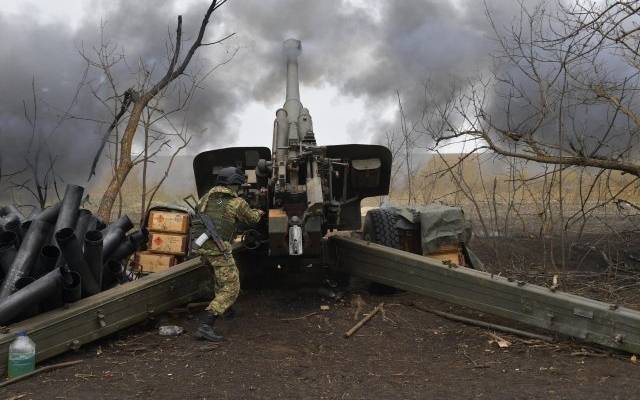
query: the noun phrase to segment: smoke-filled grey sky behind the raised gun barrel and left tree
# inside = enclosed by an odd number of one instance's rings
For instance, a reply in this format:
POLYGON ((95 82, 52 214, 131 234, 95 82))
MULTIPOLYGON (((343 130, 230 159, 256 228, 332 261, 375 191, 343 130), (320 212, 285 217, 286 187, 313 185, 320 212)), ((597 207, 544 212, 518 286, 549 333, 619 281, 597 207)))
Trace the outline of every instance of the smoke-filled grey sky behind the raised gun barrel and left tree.
MULTIPOLYGON (((487 1, 494 18, 505 24, 513 18, 514 3, 487 1)), ((104 37, 126 54, 129 69, 117 75, 122 92, 138 60, 157 66, 156 73, 162 70, 176 16, 184 15, 189 39, 207 6, 205 0, 2 0, 0 36, 9 40, 0 41, 0 136, 13 149, 28 145, 32 127, 25 121, 25 104, 33 112, 35 82, 34 132, 47 137, 47 149, 59 156, 59 169, 69 180, 79 181, 105 129, 89 120, 108 119, 84 87, 71 110, 83 119, 55 122, 82 75, 79 49, 95 48, 104 24, 104 37)), ((210 68, 237 51, 196 93, 186 116, 194 133, 188 154, 270 146, 275 111, 284 102, 282 41, 289 37, 302 40, 301 101, 321 145, 383 143, 387 132, 399 129, 396 91, 412 116, 424 102, 425 80, 444 96, 450 82, 485 71, 494 46, 478 0, 231 0, 214 14, 205 40, 229 33, 235 36, 200 49, 192 63, 210 68)), ((91 84, 99 79, 89 73, 91 84)), ((4 171, 24 161, 20 151, 4 149, 4 171)))

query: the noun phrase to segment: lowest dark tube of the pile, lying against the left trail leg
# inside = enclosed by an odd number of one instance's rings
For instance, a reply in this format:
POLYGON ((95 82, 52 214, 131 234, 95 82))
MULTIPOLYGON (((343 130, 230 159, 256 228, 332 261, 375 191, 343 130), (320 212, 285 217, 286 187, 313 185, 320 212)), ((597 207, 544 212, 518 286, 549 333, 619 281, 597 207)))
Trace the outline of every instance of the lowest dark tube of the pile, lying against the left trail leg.
POLYGON ((0 300, 0 325, 7 325, 22 310, 62 294, 62 276, 55 269, 32 284, 0 300))

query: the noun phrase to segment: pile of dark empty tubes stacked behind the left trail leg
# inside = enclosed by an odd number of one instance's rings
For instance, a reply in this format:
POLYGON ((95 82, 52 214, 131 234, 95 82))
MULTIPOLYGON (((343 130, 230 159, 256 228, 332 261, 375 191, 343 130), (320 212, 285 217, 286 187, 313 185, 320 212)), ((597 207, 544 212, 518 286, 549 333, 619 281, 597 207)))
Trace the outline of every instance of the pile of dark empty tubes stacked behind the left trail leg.
POLYGON ((146 229, 123 216, 105 225, 81 209, 84 188, 25 217, 0 207, 0 325, 92 296, 126 282, 125 261, 146 246, 146 229))

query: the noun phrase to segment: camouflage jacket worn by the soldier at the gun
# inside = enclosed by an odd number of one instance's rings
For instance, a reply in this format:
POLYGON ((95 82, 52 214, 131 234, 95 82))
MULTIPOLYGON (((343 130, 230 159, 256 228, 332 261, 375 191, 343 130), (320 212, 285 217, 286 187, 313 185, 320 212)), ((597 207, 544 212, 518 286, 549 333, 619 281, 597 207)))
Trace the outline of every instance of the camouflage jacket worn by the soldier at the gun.
MULTIPOLYGON (((198 202, 198 210, 211 217, 218 235, 225 242, 227 251, 231 251, 230 242, 236 235, 236 224, 238 222, 247 225, 256 224, 262 215, 259 210, 252 209, 242 197, 225 186, 214 186, 202 196, 198 202)), ((207 240, 197 252, 211 256, 222 254, 211 239, 207 240)))

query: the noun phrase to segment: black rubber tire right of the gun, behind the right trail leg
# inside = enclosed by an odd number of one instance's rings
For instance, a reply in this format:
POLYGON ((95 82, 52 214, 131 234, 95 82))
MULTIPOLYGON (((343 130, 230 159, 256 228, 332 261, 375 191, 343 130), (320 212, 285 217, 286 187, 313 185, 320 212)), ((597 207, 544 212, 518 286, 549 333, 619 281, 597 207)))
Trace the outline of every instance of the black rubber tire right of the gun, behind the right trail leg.
MULTIPOLYGON (((364 240, 397 249, 400 247, 397 222, 398 216, 392 211, 381 208, 368 211, 362 228, 364 240)), ((369 292, 376 295, 390 295, 400 293, 401 290, 382 283, 371 282, 369 292)))

